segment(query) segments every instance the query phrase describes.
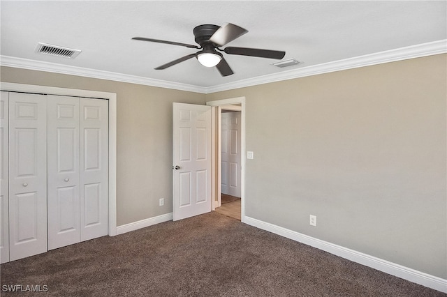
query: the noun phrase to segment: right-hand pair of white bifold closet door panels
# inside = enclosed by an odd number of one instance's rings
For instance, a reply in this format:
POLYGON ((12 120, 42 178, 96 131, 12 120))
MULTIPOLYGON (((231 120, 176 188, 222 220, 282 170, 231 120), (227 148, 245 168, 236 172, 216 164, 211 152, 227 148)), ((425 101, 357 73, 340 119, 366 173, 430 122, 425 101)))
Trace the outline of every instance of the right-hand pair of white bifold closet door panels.
POLYGON ((48 250, 108 234, 108 101, 48 96, 48 250))

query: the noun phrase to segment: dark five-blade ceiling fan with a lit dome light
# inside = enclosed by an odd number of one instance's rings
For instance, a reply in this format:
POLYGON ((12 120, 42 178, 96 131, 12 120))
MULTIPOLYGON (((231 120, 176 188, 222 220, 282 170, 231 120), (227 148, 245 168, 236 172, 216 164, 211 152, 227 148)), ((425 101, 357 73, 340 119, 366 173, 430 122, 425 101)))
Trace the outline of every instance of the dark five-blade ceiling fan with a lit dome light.
POLYGON ((150 41, 152 43, 166 43, 168 45, 179 45, 182 47, 190 47, 200 50, 194 54, 188 54, 186 56, 182 56, 182 58, 163 64, 162 66, 155 68, 156 70, 166 69, 170 66, 174 66, 177 63, 196 57, 200 62, 200 64, 202 64, 203 66, 206 67, 216 66, 217 70, 219 70, 219 73, 221 73, 222 76, 228 76, 233 74, 233 70, 231 70, 230 66, 223 58, 223 54, 221 54, 220 52, 225 52, 226 54, 257 56, 261 58, 270 58, 279 60, 284 58, 286 52, 276 50, 261 50, 248 47, 226 47, 223 50, 219 49, 219 47, 226 45, 230 41, 235 40, 236 38, 244 35, 247 32, 248 31, 246 29, 230 23, 225 24, 223 26, 217 26, 214 24, 203 24, 200 26, 196 26, 196 28, 193 29, 195 37, 194 40, 196 41, 196 43, 198 43, 198 45, 200 45, 200 47, 198 47, 197 45, 189 45, 186 43, 175 43, 173 41, 144 38, 144 37, 134 37, 132 39, 150 41))

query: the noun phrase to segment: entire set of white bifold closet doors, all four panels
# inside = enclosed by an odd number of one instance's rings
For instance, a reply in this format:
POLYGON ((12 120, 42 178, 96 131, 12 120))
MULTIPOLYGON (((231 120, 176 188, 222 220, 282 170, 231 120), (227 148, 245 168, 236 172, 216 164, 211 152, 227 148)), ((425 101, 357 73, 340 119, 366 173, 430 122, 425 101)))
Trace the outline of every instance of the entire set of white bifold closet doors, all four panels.
POLYGON ((108 234, 108 100, 1 91, 0 261, 108 234))

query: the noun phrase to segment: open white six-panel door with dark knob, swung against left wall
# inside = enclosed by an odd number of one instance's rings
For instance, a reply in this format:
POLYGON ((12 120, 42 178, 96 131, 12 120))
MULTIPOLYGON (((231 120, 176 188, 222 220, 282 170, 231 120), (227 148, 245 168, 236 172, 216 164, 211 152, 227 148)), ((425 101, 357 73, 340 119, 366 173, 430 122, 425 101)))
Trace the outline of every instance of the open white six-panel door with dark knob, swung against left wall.
POLYGON ((173 220, 211 211, 211 107, 173 103, 173 220))

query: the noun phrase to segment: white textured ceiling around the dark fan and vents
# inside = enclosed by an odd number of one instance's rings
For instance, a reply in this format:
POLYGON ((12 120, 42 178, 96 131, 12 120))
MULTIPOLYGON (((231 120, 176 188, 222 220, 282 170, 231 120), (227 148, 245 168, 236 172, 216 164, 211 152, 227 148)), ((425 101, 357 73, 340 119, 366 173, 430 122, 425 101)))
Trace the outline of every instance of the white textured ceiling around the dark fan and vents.
POLYGON ((194 49, 131 40, 195 44, 199 24, 237 24, 249 32, 227 46, 284 50, 300 68, 445 40, 446 1, 1 1, 1 56, 150 79, 216 86, 271 75, 272 59, 224 54, 221 77, 189 59, 154 70, 194 49), (36 54, 49 43, 82 50, 75 59, 36 54))

